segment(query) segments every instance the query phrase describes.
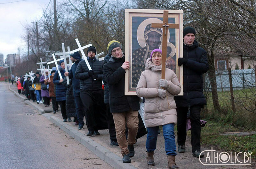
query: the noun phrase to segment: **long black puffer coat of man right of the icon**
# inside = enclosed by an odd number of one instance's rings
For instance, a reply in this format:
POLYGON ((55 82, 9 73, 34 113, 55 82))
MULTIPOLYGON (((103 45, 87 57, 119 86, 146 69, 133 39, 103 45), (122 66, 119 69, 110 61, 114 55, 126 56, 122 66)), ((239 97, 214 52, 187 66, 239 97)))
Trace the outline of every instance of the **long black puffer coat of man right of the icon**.
POLYGON ((183 66, 183 96, 174 96, 177 107, 190 107, 194 105, 206 105, 203 94, 203 73, 206 73, 209 64, 207 53, 198 47, 195 40, 193 45, 183 44, 183 57, 188 62, 183 66))

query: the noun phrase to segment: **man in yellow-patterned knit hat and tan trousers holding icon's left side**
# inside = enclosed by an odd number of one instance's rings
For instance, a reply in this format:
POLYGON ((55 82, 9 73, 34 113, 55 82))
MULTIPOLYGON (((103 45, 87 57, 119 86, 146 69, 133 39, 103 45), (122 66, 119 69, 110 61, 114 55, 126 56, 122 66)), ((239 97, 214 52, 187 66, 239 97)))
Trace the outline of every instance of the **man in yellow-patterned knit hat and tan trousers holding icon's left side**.
POLYGON ((124 74, 129 69, 129 62, 124 62, 121 44, 116 40, 108 43, 109 61, 103 67, 104 79, 108 83, 109 107, 116 126, 116 139, 121 148, 123 163, 131 163, 134 156, 133 144, 138 132, 138 110, 140 98, 124 95, 124 74), (125 136, 125 124, 128 138, 125 136))

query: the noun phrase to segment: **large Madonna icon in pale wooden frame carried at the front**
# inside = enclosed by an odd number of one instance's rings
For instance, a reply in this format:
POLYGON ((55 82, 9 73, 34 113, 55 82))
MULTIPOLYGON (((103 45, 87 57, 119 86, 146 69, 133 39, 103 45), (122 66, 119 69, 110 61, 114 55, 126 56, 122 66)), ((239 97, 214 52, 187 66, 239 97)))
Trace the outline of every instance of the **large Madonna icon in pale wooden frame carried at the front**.
MULTIPOLYGON (((163 23, 164 10, 125 10, 125 61, 130 69, 125 74, 125 95, 136 95, 140 74, 145 70, 145 62, 152 50, 162 49, 163 29, 154 28, 152 23, 163 23), (127 57, 128 56, 128 57, 127 57)), ((179 29, 167 27, 166 68, 173 70, 182 85, 183 69, 178 66, 178 58, 183 57, 183 15, 180 10, 168 10, 168 23, 179 24, 179 29)))

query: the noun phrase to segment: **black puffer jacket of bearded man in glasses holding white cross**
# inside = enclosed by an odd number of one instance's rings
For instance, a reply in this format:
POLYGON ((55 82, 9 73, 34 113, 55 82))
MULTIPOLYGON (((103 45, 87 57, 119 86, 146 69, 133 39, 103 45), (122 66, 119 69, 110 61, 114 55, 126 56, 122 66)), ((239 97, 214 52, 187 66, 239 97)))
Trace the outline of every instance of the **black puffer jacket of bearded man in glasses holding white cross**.
POLYGON ((85 61, 80 61, 77 65, 75 73, 76 79, 80 80, 80 90, 102 90, 102 67, 104 63, 102 61, 96 60, 96 58, 94 58, 93 60, 87 58, 87 60, 92 70, 94 71, 94 74, 98 75, 98 79, 93 80, 92 77, 90 77, 88 74, 89 69, 85 61))

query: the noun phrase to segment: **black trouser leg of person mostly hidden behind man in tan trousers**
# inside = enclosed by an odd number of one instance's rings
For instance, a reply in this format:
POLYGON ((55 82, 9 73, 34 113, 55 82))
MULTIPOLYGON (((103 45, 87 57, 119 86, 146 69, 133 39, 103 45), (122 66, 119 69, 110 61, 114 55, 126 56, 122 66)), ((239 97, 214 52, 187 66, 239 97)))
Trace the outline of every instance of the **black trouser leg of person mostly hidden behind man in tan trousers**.
POLYGON ((113 115, 110 112, 109 104, 106 104, 106 114, 107 114, 108 131, 109 131, 109 135, 110 135, 110 140, 117 141, 116 140, 116 127, 115 127, 113 115))

